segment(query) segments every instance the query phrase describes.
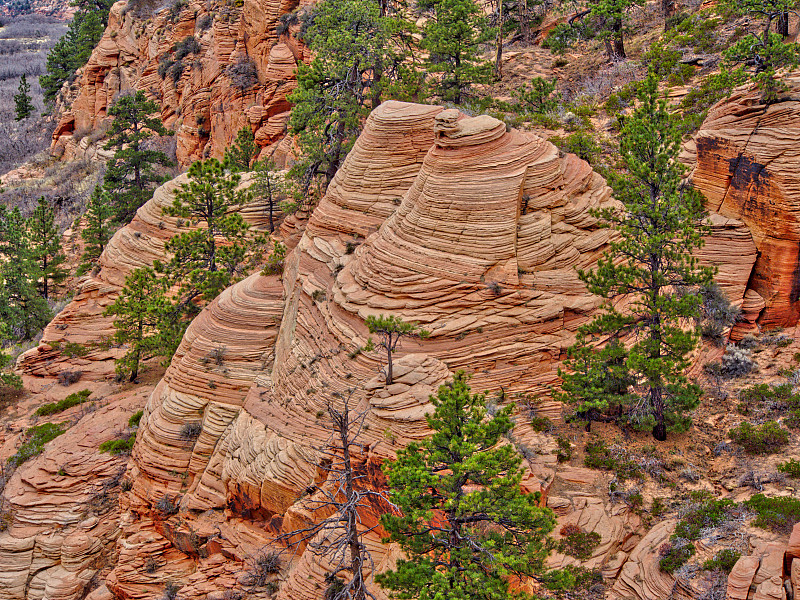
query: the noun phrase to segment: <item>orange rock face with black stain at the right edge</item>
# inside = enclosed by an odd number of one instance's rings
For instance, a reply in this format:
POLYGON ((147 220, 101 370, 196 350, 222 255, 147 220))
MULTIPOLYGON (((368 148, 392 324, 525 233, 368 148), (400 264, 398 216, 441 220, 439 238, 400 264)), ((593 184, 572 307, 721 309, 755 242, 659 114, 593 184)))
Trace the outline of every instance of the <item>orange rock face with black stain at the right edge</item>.
MULTIPOLYGON (((800 88, 796 75, 787 83, 800 88)), ((711 109, 689 147, 709 210, 752 232, 759 257, 749 288, 764 301, 763 326, 793 326, 800 317, 799 114, 796 100, 765 106, 757 91, 742 88, 711 109)), ((750 311, 758 304, 751 294, 750 311)))

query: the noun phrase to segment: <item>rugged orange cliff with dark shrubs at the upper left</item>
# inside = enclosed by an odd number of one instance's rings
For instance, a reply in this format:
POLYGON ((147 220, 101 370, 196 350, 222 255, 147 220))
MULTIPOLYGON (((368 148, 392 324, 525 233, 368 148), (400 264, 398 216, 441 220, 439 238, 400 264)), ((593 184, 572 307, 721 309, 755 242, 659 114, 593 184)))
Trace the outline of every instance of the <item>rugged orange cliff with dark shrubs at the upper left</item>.
POLYGON ((161 106, 182 165, 222 156, 243 127, 261 147, 275 144, 286 129, 286 96, 304 53, 291 33, 279 39, 275 26, 280 15, 305 3, 194 0, 173 9, 117 2, 88 63, 62 91, 53 151, 67 159, 85 155, 86 134, 106 125, 109 106, 128 90, 143 90, 161 106), (200 49, 180 58, 174 47, 189 36, 200 49))

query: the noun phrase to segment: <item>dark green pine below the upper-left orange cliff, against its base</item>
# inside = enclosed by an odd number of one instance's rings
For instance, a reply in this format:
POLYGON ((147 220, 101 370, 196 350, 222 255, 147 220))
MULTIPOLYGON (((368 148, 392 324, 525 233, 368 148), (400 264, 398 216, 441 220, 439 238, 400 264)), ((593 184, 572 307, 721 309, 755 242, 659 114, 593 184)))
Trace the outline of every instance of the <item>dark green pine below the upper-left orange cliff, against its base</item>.
POLYGON ((155 186, 163 182, 156 167, 172 165, 166 154, 148 149, 144 143, 154 135, 169 134, 159 111, 158 104, 148 100, 141 90, 120 96, 108 111, 114 121, 105 148, 114 149, 114 157, 106 165, 103 187, 111 197, 119 223, 129 222, 137 209, 152 198, 155 186))

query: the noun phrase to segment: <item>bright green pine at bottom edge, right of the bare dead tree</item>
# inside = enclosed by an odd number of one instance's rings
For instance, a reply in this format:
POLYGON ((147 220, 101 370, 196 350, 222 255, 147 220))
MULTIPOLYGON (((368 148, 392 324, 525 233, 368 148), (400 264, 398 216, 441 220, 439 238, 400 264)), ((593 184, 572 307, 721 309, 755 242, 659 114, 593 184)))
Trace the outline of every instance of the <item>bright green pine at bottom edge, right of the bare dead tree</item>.
POLYGON ((512 428, 511 406, 492 417, 459 371, 431 396, 433 436, 398 451, 385 472, 389 540, 406 558, 376 577, 398 598, 506 600, 509 579, 542 568, 555 519, 539 494, 522 494, 522 458, 499 444, 512 428))

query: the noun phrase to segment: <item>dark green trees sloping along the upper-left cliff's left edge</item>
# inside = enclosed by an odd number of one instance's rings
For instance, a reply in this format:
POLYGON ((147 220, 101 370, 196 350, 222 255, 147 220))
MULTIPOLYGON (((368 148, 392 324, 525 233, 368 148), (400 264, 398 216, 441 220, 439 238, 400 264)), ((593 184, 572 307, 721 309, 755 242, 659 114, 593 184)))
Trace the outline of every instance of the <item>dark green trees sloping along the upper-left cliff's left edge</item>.
POLYGON ((61 86, 86 64, 89 55, 103 36, 112 0, 77 0, 78 10, 69 29, 47 55, 47 73, 39 77, 44 99, 52 103, 61 86))

